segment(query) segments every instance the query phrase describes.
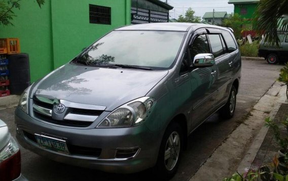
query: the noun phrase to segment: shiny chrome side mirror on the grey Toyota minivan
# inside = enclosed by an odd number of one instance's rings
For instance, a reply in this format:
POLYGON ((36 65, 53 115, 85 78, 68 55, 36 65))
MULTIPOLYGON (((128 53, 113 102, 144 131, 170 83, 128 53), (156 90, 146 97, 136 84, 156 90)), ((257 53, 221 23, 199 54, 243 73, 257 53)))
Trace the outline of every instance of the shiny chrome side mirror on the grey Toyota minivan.
POLYGON ((209 67, 215 64, 215 58, 210 53, 200 53, 194 57, 193 67, 201 68, 201 67, 209 67))

